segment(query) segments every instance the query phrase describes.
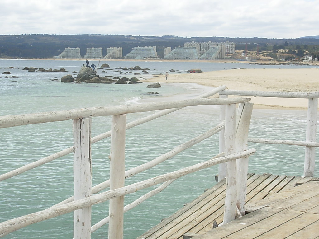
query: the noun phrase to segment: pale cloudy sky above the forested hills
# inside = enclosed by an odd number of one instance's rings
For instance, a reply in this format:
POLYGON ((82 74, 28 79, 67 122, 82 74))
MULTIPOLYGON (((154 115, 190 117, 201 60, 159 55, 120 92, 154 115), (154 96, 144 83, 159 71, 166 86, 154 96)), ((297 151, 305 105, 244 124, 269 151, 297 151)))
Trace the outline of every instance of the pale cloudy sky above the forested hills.
POLYGON ((0 0, 0 6, 0 35, 319 35, 319 0, 0 0))

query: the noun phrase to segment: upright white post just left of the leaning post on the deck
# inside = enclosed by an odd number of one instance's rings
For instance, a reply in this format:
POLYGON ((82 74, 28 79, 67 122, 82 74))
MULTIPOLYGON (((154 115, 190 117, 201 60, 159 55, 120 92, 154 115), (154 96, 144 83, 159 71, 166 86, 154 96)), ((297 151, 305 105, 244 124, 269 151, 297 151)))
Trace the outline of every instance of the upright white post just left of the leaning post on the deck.
MULTIPOLYGON (((226 105, 225 156, 236 153, 235 129, 236 105, 226 105)), ((226 162, 226 198, 223 224, 235 219, 237 201, 236 172, 236 160, 226 162)))

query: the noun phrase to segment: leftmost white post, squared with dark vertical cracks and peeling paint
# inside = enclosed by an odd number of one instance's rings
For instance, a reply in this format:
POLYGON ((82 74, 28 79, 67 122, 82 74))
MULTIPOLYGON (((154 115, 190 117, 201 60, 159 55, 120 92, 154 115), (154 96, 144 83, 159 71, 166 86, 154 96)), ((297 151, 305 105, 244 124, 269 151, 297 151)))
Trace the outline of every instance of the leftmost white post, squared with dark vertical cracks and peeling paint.
MULTIPOLYGON (((91 118, 73 120, 74 201, 91 196, 91 118)), ((74 211, 73 238, 91 238, 91 206, 74 211)))

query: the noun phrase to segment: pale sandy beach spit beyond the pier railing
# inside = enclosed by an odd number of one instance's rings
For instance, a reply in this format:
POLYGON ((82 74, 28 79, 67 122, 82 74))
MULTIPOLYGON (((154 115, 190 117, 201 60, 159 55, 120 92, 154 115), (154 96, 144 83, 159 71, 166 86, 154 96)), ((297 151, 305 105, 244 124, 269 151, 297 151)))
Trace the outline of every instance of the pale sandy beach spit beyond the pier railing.
MULTIPOLYGON (((309 67, 310 68, 310 67, 309 67)), ((230 69, 202 73, 154 76, 143 82, 197 83, 209 87, 226 85, 230 90, 319 92, 319 69, 230 69)), ((218 95, 216 95, 218 97, 218 95)), ((229 96, 237 97, 237 96, 229 96)), ((308 99, 253 97, 255 108, 303 110, 308 99)))

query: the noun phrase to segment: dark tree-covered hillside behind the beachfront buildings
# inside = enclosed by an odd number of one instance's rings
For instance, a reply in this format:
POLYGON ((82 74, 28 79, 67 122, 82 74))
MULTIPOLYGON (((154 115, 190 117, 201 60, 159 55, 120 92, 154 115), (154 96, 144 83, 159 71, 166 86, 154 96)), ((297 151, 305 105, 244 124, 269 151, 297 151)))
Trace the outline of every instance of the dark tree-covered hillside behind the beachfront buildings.
MULTIPOLYGON (((52 58, 66 47, 79 47, 81 56, 86 48, 102 47, 103 55, 108 47, 122 47, 123 56, 134 47, 156 46, 159 58, 164 57, 164 48, 183 46, 185 42, 235 42, 236 50, 255 52, 256 56, 295 59, 306 54, 319 55, 319 39, 315 37, 296 39, 226 38, 226 37, 178 37, 178 36, 125 36, 125 35, 48 35, 21 34, 0 35, 1 58, 52 58)), ((234 56, 235 58, 236 56, 234 56)))

